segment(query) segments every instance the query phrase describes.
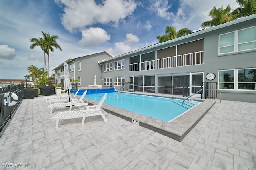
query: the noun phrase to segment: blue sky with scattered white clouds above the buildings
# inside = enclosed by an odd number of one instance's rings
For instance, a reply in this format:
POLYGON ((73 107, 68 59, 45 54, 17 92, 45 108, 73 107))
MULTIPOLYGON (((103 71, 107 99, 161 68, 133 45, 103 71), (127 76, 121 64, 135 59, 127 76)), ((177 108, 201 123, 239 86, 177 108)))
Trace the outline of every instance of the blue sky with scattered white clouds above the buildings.
POLYGON ((50 53, 50 74, 68 58, 108 51, 120 55, 158 43, 166 26, 200 30, 210 10, 234 0, 187 1, 0 1, 1 79, 24 79, 27 67, 44 67, 40 47, 29 39, 41 31, 58 35, 62 51, 50 53))

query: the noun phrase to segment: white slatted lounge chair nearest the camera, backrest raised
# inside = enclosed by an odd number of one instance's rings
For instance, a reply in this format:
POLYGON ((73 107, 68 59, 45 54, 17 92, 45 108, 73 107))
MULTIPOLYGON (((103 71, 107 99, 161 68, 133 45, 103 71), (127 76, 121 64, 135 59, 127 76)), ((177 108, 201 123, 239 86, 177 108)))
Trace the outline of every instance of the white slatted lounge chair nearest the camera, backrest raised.
POLYGON ((82 125, 84 125, 85 117, 89 116, 97 116, 100 115, 103 119, 104 122, 108 121, 108 118, 105 117, 107 113, 103 110, 102 104, 104 103, 106 99, 107 93, 102 97, 98 105, 96 106, 87 106, 86 110, 81 110, 81 111, 66 111, 66 112, 59 112, 57 113, 54 117, 51 119, 56 119, 56 125, 55 128, 58 128, 59 121, 62 119, 72 119, 72 118, 79 118, 82 117, 82 125), (94 109, 90 109, 91 107, 94 107, 94 109))

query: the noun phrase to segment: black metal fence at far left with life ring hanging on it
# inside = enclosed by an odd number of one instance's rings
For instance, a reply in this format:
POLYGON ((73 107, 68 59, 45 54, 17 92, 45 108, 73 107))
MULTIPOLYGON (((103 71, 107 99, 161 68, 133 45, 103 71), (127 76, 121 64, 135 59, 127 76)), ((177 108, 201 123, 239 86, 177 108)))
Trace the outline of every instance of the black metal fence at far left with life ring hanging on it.
POLYGON ((12 115, 15 113, 16 109, 18 108, 18 106, 20 105, 23 99, 22 97, 23 89, 24 89, 24 84, 3 87, 0 89, 0 105, 1 105, 1 111, 0 111, 1 135, 0 136, 2 136, 2 132, 8 126, 10 119, 12 119, 12 115), (4 105, 4 94, 9 92, 15 93, 18 96, 18 102, 13 106, 4 105))

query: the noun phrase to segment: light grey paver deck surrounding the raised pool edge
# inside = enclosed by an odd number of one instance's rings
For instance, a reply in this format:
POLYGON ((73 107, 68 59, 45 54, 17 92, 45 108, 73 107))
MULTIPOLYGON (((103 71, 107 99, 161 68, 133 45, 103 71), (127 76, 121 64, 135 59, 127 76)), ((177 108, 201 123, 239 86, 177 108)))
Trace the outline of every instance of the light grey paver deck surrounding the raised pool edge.
POLYGON ((54 128, 50 118, 68 109, 26 99, 0 139, 1 169, 255 169, 256 104, 215 102, 179 142, 112 114, 54 128))

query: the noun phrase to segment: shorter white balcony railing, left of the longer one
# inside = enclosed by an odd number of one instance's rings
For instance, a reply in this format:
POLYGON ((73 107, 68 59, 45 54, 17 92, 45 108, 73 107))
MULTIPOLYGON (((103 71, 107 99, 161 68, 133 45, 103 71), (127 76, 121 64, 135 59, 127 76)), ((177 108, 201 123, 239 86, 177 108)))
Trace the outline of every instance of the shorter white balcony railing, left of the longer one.
POLYGON ((144 71, 155 69, 155 60, 144 61, 141 63, 129 64, 129 71, 144 71))

